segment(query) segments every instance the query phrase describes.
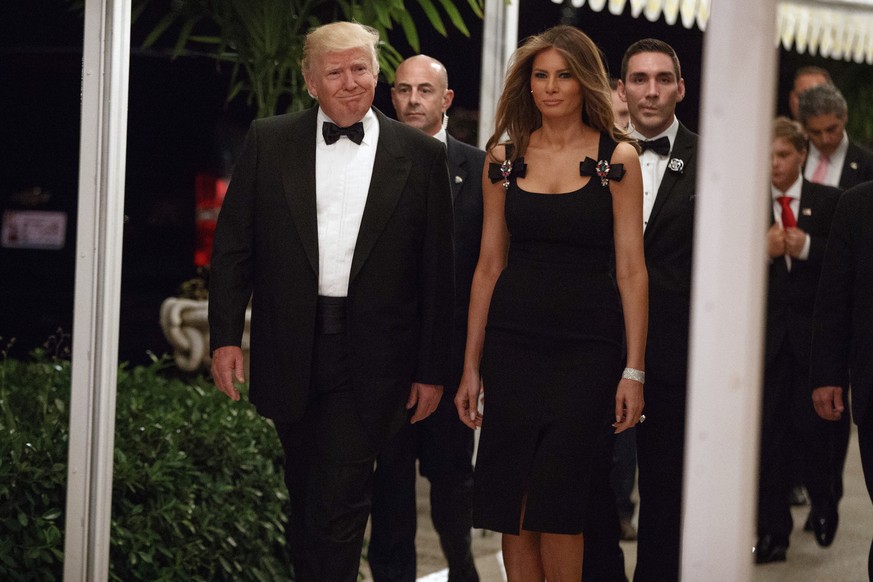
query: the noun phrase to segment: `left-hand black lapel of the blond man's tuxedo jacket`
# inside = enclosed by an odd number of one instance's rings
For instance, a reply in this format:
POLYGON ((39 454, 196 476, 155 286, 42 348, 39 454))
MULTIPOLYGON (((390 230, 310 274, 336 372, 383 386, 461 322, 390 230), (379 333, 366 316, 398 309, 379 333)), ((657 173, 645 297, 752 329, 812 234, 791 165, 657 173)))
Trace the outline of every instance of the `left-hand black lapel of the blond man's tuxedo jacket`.
POLYGON ((315 124, 318 108, 291 126, 284 159, 278 162, 285 199, 312 270, 318 273, 318 216, 315 205, 315 124))

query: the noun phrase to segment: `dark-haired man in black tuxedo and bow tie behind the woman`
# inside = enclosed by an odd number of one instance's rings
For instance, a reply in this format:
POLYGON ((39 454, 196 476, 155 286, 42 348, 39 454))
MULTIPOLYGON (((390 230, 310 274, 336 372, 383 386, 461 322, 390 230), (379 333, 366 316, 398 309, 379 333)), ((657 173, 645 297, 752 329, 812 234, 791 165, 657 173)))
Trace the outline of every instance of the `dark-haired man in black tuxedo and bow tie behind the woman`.
POLYGON ((640 495, 634 580, 679 579, 697 135, 676 118, 679 58, 644 39, 625 51, 619 95, 643 148, 643 243, 649 272, 646 422, 637 430, 640 495))

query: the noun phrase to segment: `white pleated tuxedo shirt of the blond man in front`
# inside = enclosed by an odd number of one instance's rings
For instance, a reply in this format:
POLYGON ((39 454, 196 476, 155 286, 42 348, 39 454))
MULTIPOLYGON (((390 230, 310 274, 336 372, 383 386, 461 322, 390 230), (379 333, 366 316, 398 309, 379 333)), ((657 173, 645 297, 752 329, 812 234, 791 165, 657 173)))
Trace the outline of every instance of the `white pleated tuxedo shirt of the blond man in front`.
POLYGON ((345 297, 373 176, 379 120, 372 109, 361 120, 364 124, 361 145, 346 136, 327 145, 321 133, 325 121, 332 120, 319 109, 315 136, 318 294, 345 297))

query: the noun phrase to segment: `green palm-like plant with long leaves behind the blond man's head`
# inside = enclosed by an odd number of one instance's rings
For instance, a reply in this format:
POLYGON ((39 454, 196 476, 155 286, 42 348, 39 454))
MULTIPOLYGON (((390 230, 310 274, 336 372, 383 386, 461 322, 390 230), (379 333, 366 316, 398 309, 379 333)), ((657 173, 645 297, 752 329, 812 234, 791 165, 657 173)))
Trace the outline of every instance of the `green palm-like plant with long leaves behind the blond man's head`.
MULTIPOLYGON (((81 9, 83 0, 70 0, 81 9)), ((461 11, 454 0, 415 0, 430 25, 448 35, 444 19, 470 36, 461 11)), ((483 0, 466 0, 477 18, 482 18, 483 0)), ((134 16, 155 11, 152 0, 134 0, 134 16)), ((163 3, 157 10, 163 10, 163 3)), ((151 28, 144 47, 153 46, 174 34, 173 54, 180 56, 203 51, 233 67, 228 101, 237 95, 248 96, 257 107, 258 117, 284 109, 296 111, 312 100, 300 72, 300 58, 306 33, 316 26, 336 20, 354 20, 380 32, 380 65, 388 82, 403 60, 389 42, 389 31, 399 25, 404 38, 419 52, 418 29, 406 0, 173 0, 151 28)))

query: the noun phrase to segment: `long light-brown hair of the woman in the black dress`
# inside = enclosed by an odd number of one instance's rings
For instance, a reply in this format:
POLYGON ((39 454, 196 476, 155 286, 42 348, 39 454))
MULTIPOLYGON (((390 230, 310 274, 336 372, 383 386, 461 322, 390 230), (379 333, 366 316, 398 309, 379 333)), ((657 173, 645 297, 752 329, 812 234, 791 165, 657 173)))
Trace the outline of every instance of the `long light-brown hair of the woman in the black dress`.
POLYGON ((531 95, 530 78, 534 58, 547 49, 555 49, 564 57, 567 68, 582 86, 582 122, 606 132, 617 142, 633 143, 625 132, 615 127, 609 77, 600 49, 578 28, 560 25, 529 37, 513 53, 503 93, 497 102, 494 134, 488 139, 485 149, 493 149, 507 134, 514 146, 510 158, 515 159, 524 155, 530 134, 542 126, 542 114, 531 95))

